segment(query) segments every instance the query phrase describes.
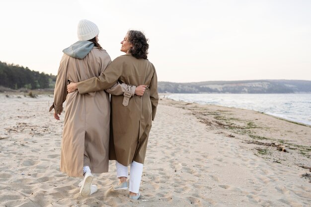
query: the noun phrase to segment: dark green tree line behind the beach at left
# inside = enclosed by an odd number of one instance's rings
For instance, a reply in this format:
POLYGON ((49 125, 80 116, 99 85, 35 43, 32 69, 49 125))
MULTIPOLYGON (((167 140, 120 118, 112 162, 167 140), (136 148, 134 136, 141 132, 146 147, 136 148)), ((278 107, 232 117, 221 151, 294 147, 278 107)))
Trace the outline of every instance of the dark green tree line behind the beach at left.
POLYGON ((0 85, 11 89, 54 88, 56 75, 0 62, 0 85))

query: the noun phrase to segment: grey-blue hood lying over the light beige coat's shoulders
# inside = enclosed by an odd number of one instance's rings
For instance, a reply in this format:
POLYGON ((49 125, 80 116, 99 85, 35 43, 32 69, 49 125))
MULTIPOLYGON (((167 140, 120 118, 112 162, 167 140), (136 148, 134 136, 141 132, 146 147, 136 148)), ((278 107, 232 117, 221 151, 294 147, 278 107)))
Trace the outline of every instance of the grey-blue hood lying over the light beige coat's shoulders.
POLYGON ((90 41, 78 41, 70 47, 64 49, 63 53, 73 58, 83 59, 87 56, 93 47, 94 43, 90 41))

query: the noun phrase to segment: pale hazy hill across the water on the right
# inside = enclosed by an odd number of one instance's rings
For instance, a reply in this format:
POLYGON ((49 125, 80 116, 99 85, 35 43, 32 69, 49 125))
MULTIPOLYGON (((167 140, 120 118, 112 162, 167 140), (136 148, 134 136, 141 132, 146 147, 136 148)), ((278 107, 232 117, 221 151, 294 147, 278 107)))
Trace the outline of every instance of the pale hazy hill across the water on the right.
POLYGON ((310 80, 158 82, 159 93, 311 93, 310 80))

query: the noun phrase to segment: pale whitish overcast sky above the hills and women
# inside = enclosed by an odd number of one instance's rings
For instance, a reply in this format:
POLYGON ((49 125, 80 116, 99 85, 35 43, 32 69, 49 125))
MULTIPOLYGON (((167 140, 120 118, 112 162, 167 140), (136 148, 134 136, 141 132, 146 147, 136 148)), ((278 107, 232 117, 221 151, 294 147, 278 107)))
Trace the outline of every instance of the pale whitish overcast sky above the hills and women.
POLYGON ((0 61, 57 74, 80 19, 111 59, 129 29, 158 81, 311 80, 311 0, 1 0, 0 61))

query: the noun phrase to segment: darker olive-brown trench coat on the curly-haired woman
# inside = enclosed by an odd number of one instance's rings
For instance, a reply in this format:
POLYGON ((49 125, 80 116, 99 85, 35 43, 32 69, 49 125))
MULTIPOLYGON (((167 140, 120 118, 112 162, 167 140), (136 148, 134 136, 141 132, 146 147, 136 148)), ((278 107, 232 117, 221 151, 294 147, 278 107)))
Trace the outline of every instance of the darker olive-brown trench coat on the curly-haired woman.
POLYGON ((134 96, 123 106, 123 96, 111 96, 112 132, 109 159, 124 166, 132 161, 144 163, 152 120, 158 103, 156 69, 145 59, 131 54, 116 58, 99 77, 78 83, 79 93, 111 87, 117 80, 131 85, 148 85, 143 96, 134 96))

